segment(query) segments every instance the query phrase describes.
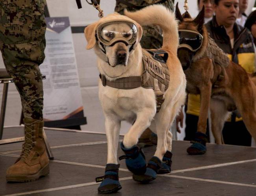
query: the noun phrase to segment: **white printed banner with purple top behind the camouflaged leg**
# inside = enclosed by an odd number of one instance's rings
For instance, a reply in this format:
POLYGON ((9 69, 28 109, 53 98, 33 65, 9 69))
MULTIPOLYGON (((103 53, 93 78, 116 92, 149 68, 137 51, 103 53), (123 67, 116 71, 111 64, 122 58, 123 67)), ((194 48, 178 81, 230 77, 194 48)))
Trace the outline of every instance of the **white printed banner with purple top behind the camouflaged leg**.
POLYGON ((46 18, 44 120, 83 117, 82 95, 68 17, 46 18))

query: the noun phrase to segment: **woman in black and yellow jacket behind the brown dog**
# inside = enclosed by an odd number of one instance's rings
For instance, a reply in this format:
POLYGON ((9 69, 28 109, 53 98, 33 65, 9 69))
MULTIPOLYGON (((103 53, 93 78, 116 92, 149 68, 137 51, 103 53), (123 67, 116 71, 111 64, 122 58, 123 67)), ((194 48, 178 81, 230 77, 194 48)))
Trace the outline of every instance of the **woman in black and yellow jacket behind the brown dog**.
MULTIPOLYGON (((239 0, 214 0, 215 16, 206 24, 206 28, 216 44, 223 49, 233 62, 240 64, 248 73, 255 71, 255 49, 250 32, 236 23, 239 13, 239 0)), ((226 144, 251 144, 239 113, 233 113, 223 128, 223 140, 226 144)))

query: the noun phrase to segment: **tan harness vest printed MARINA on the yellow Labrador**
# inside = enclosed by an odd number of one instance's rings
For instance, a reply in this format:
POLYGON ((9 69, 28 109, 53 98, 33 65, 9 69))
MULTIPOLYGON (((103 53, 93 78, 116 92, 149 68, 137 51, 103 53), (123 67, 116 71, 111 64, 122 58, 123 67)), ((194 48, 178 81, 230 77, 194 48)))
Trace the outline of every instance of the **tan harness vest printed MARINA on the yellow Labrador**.
POLYGON ((135 89, 137 87, 154 89, 157 103, 156 112, 159 112, 161 104, 164 102, 163 93, 167 90, 170 81, 169 70, 166 65, 167 58, 168 54, 163 50, 142 49, 144 72, 141 76, 130 76, 109 81, 104 75, 100 74, 102 85, 117 89, 135 89), (163 54, 163 56, 160 56, 160 54, 163 54))

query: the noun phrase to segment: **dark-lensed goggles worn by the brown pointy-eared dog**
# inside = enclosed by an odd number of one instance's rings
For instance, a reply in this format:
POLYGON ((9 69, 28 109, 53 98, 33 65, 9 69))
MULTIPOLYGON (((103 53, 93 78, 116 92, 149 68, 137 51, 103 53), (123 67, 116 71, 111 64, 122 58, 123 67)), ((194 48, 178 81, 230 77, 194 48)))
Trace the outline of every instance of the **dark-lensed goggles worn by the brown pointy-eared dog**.
POLYGON ((179 30, 179 41, 180 45, 178 48, 186 47, 187 49, 195 52, 197 51, 203 43, 203 36, 191 30, 179 30))

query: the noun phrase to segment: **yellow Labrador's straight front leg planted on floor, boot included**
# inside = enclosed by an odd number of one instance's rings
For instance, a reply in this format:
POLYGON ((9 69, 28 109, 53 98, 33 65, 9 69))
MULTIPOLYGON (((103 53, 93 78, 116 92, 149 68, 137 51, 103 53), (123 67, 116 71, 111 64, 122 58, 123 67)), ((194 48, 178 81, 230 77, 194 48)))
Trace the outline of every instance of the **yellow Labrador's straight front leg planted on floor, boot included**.
POLYGON ((98 192, 100 193, 113 193, 120 190, 121 184, 119 183, 118 171, 119 165, 117 163, 117 147, 119 139, 119 131, 121 126, 121 121, 117 120, 115 117, 106 116, 105 128, 108 140, 108 160, 105 169, 105 175, 96 178, 98 181, 102 181, 98 187, 98 192))

